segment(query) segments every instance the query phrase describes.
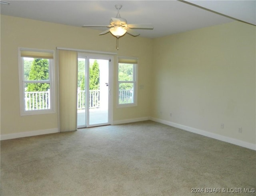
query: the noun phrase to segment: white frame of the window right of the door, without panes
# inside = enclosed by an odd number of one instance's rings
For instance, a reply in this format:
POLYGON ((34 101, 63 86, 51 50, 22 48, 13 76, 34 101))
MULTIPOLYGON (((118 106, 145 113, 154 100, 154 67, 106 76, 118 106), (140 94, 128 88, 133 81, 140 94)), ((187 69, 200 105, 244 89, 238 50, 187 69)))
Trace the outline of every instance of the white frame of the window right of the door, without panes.
MULTIPOLYGON (((118 56, 117 58, 117 108, 125 108, 125 107, 134 107, 137 106, 137 94, 138 94, 138 84, 137 84, 137 79, 138 79, 138 58, 134 58, 134 57, 126 57, 126 56, 118 56), (127 60, 128 62, 131 61, 131 63, 127 63, 127 64, 133 64, 133 80, 132 81, 119 81, 119 60, 127 60), (136 62, 136 63, 132 63, 132 62, 136 62), (120 104, 119 103, 119 84, 121 83, 133 83, 134 84, 134 92, 133 92, 133 103, 129 103, 129 104, 120 104)), ((120 62, 122 63, 122 62, 120 62)))

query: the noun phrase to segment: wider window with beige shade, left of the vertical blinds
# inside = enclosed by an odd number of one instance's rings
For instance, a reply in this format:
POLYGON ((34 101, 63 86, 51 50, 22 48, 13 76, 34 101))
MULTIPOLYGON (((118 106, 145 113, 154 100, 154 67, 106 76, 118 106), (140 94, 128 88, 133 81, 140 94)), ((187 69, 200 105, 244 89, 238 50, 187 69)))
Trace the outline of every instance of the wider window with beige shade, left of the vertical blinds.
POLYGON ((48 114, 52 106, 52 50, 19 48, 20 114, 48 114))

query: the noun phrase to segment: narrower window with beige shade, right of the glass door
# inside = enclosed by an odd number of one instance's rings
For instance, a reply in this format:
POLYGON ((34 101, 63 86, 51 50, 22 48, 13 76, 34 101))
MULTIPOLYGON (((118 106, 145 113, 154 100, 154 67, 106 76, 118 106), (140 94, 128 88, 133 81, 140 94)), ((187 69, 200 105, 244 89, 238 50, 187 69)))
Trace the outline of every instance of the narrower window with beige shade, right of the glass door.
POLYGON ((118 106, 137 105, 137 58, 118 58, 118 106))

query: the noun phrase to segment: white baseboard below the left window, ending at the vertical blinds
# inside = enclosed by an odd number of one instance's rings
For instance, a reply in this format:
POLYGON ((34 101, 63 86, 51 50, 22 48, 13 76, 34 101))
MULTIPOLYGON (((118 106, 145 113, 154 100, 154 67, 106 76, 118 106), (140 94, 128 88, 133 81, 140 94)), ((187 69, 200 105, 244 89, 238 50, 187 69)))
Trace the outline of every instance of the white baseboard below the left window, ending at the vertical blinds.
POLYGON ((38 136, 38 135, 50 134, 50 133, 58 133, 58 128, 37 130, 37 131, 27 131, 27 132, 12 133, 12 134, 3 134, 0 136, 0 140, 24 138, 29 136, 38 136))

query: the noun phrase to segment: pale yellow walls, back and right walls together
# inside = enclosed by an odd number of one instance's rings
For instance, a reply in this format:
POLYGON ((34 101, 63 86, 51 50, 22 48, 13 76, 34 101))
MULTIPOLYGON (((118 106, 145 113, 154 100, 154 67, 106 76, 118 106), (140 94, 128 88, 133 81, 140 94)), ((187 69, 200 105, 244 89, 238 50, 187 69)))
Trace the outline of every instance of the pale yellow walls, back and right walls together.
POLYGON ((18 47, 55 51, 64 47, 139 58, 138 106, 131 108, 116 108, 115 58, 114 121, 152 116, 256 143, 254 26, 231 22, 156 39, 126 35, 118 51, 115 38, 98 36, 100 32, 1 16, 1 134, 58 128, 57 112, 20 116, 18 47))

